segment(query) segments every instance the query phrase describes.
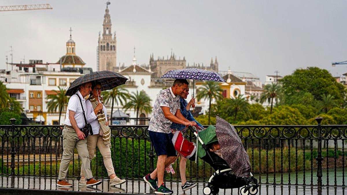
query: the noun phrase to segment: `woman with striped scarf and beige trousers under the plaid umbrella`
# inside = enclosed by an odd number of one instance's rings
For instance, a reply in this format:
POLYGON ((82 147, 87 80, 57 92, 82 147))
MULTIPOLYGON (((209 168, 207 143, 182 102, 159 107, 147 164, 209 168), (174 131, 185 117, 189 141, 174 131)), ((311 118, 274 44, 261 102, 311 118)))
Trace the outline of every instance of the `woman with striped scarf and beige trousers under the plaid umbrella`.
MULTIPOLYGON (((92 92, 86 101, 86 118, 87 122, 91 124, 93 135, 87 137, 87 149, 89 159, 92 160, 95 154, 96 146, 98 146, 100 153, 103 157, 104 166, 110 177, 110 186, 115 186, 124 183, 125 179, 120 179, 115 174, 111 159, 111 129, 108 126, 107 111, 103 105, 101 97, 101 84, 98 82, 92 83, 92 92)), ((81 169, 80 183, 84 183, 84 173, 81 169)))

